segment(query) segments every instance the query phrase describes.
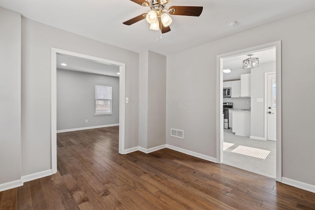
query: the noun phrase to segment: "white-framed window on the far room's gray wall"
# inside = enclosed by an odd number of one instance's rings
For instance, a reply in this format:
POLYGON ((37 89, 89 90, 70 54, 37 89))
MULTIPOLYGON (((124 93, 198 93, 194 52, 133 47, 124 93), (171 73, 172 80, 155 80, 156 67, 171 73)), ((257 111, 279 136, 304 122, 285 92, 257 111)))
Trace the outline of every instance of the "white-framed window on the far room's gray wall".
POLYGON ((112 87, 95 85, 95 115, 112 113, 112 87))

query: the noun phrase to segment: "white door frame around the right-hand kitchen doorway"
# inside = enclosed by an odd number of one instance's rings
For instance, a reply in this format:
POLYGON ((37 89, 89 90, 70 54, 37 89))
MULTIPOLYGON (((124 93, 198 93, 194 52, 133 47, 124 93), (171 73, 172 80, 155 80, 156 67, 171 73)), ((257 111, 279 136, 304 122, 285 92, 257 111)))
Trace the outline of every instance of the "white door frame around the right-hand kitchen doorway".
POLYGON ((235 52, 217 56, 217 163, 223 161, 223 58, 255 53, 262 49, 276 48, 276 80, 277 80, 277 142, 276 142, 276 180, 282 182, 282 69, 281 69, 281 40, 235 52))

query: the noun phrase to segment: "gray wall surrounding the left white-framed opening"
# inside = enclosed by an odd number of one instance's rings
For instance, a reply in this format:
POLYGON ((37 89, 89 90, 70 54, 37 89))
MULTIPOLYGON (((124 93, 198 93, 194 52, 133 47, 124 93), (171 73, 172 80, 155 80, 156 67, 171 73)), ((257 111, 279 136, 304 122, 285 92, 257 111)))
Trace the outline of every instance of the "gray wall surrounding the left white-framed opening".
POLYGON ((22 18, 22 175, 51 169, 51 48, 126 63, 125 149, 138 146, 139 55, 22 18))

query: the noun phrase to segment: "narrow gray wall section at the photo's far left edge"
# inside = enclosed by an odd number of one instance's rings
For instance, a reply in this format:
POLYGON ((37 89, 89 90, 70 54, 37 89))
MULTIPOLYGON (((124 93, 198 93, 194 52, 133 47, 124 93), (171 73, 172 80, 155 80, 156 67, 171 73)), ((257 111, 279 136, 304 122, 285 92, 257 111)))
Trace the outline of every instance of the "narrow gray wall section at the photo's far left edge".
POLYGON ((0 184, 21 180, 21 15, 0 7, 0 184))

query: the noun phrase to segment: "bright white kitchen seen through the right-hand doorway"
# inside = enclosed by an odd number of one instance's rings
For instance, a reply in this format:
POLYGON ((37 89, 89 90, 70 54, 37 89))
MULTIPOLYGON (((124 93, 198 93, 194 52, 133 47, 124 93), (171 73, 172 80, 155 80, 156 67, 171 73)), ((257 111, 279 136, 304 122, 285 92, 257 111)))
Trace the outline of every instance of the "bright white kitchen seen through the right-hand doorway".
MULTIPOLYGON (((276 87, 267 84, 268 75, 275 75, 275 58, 272 48, 224 59, 222 90, 223 163, 273 178, 276 139, 266 135, 268 114, 265 113, 272 115, 276 109, 272 100, 269 104, 268 98, 272 97, 266 94, 267 87, 276 87), (242 61, 249 58, 257 59, 257 65, 243 68, 242 61)), ((273 97, 275 101, 275 94, 273 97)))

